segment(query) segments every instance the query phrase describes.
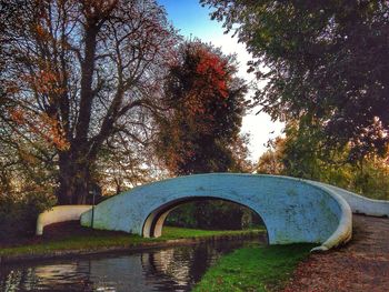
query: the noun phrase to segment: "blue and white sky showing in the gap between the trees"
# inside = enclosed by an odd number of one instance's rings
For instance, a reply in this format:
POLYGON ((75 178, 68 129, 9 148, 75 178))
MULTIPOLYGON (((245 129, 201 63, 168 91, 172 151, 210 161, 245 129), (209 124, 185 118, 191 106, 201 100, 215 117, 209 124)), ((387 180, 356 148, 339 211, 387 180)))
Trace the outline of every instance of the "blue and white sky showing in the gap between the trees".
MULTIPOLYGON (((168 19, 181 36, 211 42, 220 47, 226 54, 236 53, 239 61, 239 77, 247 81, 253 80, 253 75, 247 73, 247 61, 250 60, 250 54, 245 44, 238 43, 237 38, 225 34, 222 23, 210 20, 211 10, 201 7, 198 0, 158 0, 158 2, 164 7, 168 19)), ((272 122, 267 113, 256 114, 259 110, 260 108, 257 108, 243 118, 241 129, 242 133, 250 133, 249 150, 253 161, 258 161, 266 151, 268 140, 281 134, 283 129, 281 122, 272 122)))

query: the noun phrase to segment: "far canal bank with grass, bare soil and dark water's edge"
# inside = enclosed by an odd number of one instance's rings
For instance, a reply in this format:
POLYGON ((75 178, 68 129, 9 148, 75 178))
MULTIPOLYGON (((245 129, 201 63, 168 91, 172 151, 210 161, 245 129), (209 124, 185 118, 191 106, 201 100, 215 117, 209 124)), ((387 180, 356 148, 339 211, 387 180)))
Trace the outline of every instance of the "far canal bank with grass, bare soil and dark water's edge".
POLYGON ((161 238, 146 239, 123 232, 84 229, 76 223, 61 223, 49 228, 42 239, 24 244, 0 246, 0 264, 249 239, 260 239, 266 242, 266 231, 262 229, 206 231, 166 228, 161 238))

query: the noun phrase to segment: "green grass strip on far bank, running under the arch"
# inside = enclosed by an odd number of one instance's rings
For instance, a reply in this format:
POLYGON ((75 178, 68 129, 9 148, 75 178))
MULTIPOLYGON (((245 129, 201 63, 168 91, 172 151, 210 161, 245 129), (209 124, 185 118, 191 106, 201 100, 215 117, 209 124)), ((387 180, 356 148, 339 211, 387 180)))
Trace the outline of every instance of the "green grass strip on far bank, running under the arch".
MULTIPOLYGON (((29 254, 47 254, 57 251, 90 251, 102 248, 127 248, 140 246, 149 242, 163 242, 173 239, 187 238, 207 238, 215 235, 233 235, 245 234, 251 231, 209 231, 183 228, 163 228, 162 236, 158 239, 146 239, 140 235, 128 234, 123 232, 90 231, 86 234, 66 234, 60 238, 50 238, 36 243, 9 246, 0 249, 1 255, 29 255, 29 254)), ((261 231, 256 231, 261 232, 261 231)))

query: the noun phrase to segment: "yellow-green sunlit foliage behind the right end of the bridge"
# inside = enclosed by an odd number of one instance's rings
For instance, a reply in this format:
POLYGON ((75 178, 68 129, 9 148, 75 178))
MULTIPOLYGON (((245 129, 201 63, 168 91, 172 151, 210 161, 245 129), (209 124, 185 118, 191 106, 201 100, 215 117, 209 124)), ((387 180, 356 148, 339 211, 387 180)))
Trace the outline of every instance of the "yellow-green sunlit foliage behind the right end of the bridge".
POLYGON ((322 139, 301 131, 299 123, 288 123, 286 137, 270 141, 259 160, 258 172, 283 174, 330 183, 373 198, 389 198, 389 157, 369 154, 362 160, 347 160, 351 148, 322 150, 322 139))

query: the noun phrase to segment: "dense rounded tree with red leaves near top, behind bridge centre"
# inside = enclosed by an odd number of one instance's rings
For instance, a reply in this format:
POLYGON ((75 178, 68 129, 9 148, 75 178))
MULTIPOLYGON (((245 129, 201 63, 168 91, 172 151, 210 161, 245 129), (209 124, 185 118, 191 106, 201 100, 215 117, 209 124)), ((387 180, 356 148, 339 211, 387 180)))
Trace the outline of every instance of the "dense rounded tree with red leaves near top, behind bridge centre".
POLYGON ((159 119, 157 153, 174 174, 235 168, 231 145, 239 141, 247 88, 235 77, 232 56, 200 41, 187 42, 170 67, 159 119))

